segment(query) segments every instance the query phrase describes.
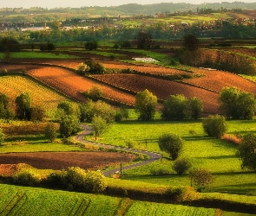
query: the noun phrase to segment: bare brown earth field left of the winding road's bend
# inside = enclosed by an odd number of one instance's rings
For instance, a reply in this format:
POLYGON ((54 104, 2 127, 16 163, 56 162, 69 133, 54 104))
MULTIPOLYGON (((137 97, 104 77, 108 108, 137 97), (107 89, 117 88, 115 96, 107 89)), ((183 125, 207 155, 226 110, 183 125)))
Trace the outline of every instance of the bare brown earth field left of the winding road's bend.
POLYGON ((69 167, 101 169, 121 162, 131 162, 135 155, 120 152, 38 152, 0 154, 0 175, 15 168, 10 164, 26 163, 34 168, 61 170, 69 167))

